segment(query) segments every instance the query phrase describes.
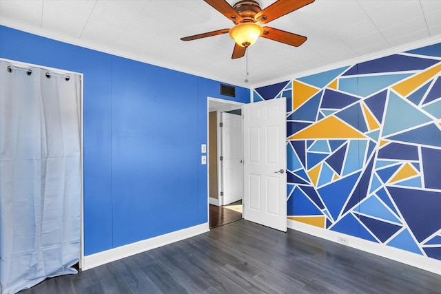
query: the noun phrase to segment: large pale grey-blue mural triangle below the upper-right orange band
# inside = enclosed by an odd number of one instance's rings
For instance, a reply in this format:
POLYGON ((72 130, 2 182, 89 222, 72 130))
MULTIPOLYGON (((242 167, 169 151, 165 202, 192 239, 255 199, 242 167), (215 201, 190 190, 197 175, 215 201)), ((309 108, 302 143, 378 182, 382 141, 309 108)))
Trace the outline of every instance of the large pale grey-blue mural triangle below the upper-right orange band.
POLYGON ((429 123, 432 120, 432 118, 420 112, 419 109, 398 97, 397 94, 390 92, 382 136, 404 131, 411 127, 429 123))

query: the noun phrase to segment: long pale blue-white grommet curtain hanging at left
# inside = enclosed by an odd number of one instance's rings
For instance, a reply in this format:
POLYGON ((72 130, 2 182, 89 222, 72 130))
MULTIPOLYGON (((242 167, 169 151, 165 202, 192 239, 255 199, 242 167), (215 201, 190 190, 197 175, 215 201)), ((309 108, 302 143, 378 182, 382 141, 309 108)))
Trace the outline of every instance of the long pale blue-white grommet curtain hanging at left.
POLYGON ((16 293, 76 273, 81 80, 0 61, 0 282, 16 293))

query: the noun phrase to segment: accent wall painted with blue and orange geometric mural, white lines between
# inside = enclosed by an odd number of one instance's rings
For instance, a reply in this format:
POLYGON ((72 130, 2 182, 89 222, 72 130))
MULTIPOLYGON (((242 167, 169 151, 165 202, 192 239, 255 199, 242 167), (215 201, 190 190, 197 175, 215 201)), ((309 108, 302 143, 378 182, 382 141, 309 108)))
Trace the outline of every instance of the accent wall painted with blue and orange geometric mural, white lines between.
POLYGON ((291 105, 289 219, 441 260, 441 54, 429 47, 254 92, 291 105))

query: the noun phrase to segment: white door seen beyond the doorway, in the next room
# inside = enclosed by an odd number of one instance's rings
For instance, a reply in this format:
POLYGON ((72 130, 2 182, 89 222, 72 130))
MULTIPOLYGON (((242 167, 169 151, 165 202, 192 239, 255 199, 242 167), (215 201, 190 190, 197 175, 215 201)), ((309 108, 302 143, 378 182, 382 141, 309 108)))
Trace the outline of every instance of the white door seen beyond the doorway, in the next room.
POLYGON ((243 163, 242 163, 242 116, 222 112, 222 192, 221 205, 227 205, 242 199, 243 163))

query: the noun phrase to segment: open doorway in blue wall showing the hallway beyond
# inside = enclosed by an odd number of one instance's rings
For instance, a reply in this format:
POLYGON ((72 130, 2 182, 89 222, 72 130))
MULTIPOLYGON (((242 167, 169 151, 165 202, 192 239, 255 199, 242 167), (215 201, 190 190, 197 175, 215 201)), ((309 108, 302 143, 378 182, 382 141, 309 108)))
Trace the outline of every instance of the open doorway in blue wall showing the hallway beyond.
POLYGON ((208 98, 209 227, 242 219, 242 104, 208 98))

